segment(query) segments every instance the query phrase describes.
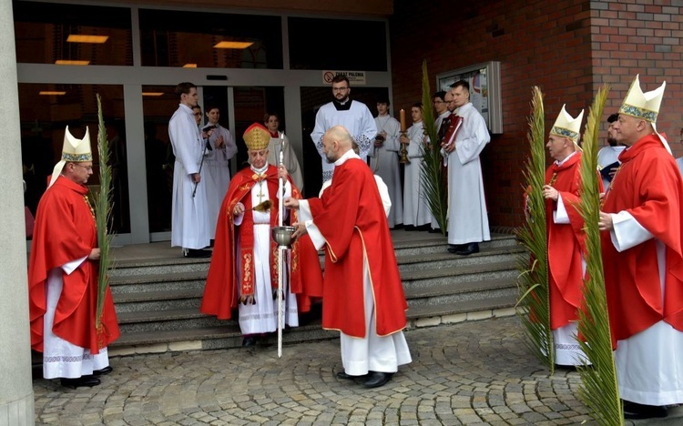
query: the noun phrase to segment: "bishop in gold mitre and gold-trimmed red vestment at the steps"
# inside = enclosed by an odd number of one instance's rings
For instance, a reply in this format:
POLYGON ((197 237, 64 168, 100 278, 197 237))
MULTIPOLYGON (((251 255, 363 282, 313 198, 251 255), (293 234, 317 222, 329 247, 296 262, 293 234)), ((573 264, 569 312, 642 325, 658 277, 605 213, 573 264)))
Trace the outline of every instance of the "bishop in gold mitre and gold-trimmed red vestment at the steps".
MULTIPOLYGON (((219 320, 229 320, 233 309, 238 309, 242 345, 253 346, 264 333, 276 331, 278 326, 278 305, 273 294, 278 288, 279 253, 270 228, 279 223, 280 198, 301 198, 301 194, 292 184, 287 168, 268 164, 270 133, 266 127, 253 124, 244 132, 244 141, 250 167, 230 180, 223 199, 200 310, 219 320), (286 179, 284 195, 278 194, 280 178, 286 179)), ((296 327, 299 313, 310 310, 311 300, 322 295, 321 264, 310 238, 294 242, 284 261, 289 265, 285 268, 289 276, 283 281, 284 319, 285 324, 296 327)))

